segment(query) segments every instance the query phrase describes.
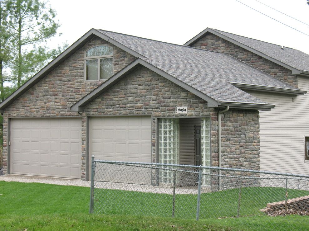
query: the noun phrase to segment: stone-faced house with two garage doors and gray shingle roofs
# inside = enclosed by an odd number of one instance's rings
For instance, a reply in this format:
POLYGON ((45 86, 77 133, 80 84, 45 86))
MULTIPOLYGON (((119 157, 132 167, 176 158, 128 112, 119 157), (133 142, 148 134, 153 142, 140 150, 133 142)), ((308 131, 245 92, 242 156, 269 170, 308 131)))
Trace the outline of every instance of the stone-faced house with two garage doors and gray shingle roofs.
POLYGON ((207 28, 175 45, 91 29, 0 104, 4 173, 89 180, 92 155, 302 173, 309 55, 233 36, 207 28))

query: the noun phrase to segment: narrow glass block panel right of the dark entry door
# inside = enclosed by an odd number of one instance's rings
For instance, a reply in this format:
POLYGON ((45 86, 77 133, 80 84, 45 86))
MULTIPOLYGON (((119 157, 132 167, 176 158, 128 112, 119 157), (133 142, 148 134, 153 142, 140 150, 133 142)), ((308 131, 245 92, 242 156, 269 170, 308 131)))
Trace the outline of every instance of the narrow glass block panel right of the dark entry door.
MULTIPOLYGON (((210 118, 202 119, 202 166, 211 166, 210 146, 210 118)), ((210 173, 210 169, 203 169, 203 173, 210 173)), ((202 186, 210 186, 210 175, 202 176, 202 186)))

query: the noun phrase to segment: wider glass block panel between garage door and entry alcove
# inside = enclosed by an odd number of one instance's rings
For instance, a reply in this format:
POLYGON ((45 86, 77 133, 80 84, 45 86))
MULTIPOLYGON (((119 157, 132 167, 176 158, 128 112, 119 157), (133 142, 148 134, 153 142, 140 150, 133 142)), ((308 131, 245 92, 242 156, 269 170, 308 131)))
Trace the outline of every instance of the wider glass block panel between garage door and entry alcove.
MULTIPOLYGON (((179 119, 159 119, 159 163, 179 164, 179 119)), ((159 171, 159 182, 173 182, 173 171, 159 171)))

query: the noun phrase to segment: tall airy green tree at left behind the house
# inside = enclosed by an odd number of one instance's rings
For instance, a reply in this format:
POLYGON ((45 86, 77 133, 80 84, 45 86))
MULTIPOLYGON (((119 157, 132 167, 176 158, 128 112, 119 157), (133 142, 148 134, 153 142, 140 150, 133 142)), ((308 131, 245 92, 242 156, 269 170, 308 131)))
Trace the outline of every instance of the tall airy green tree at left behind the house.
MULTIPOLYGON (((57 49, 50 49, 47 45, 48 41, 57 35, 60 26, 55 17, 56 12, 47 2, 0 0, 1 101, 66 48, 66 44, 58 46, 57 49), (11 84, 5 86, 5 82, 11 84)), ((0 115, 0 159, 2 121, 0 115)))

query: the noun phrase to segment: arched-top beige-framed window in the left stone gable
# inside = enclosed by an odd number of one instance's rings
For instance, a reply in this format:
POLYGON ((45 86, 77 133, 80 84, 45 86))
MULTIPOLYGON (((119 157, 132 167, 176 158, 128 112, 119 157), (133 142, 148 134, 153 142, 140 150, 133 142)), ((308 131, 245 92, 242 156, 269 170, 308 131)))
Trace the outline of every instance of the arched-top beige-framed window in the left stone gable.
POLYGON ((85 78, 90 80, 106 80, 113 75, 113 48, 97 45, 85 52, 85 78))

